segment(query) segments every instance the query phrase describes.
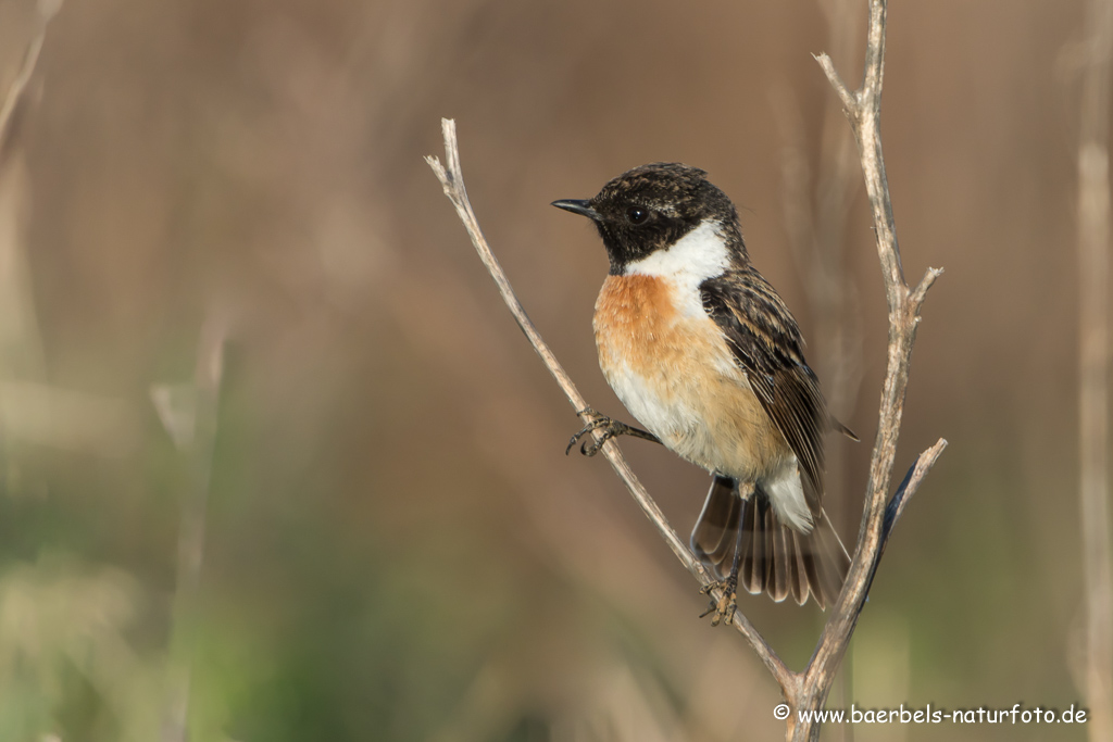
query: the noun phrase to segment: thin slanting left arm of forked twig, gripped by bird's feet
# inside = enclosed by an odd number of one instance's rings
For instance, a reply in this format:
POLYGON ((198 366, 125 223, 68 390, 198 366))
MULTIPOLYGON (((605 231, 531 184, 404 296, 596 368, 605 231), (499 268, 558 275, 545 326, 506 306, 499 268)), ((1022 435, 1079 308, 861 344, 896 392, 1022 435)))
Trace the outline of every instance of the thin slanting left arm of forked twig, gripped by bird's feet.
MULTIPOLYGON (((469 236, 472 239, 472 245, 475 246, 475 250, 479 253, 480 259, 483 265, 486 266, 487 271, 494 279, 499 287, 499 291, 502 294, 503 301, 510 308, 511 314, 518 321, 518 326, 521 327, 525 337, 530 340, 530 345, 539 356, 541 356, 542 363, 544 363, 545 368, 552 374, 556 384, 560 385, 561 389, 564 392, 564 396, 568 397, 569 403, 580 415, 581 419, 587 423, 589 422, 589 416, 584 412, 588 408, 588 403, 580 395, 575 385, 572 383, 571 377, 556 360, 556 356, 553 355, 549 345, 542 339, 541 334, 538 333, 536 327, 530 320, 529 316, 525 314, 525 309, 522 307, 521 301, 518 300, 513 288, 510 285, 510 280, 506 278, 505 271, 503 271, 502 266, 499 265, 498 258, 491 251, 491 247, 487 245, 486 238, 483 237, 483 231, 480 229, 479 220, 475 217, 475 212, 472 210, 471 202, 467 200, 467 191, 464 188, 464 176, 463 170, 460 166, 460 148, 456 141, 456 123, 452 119, 442 119, 441 121, 442 132, 444 135, 444 154, 445 162, 447 167, 441 164, 436 157, 426 157, 425 161, 429 166, 433 168, 433 172, 436 175, 441 185, 444 187, 444 194, 452 201, 453 206, 456 207, 456 214, 460 216, 460 220, 464 224, 464 228, 467 230, 469 236)), ((600 434, 595 435, 595 441, 599 441, 600 434)), ((711 585, 716 582, 715 577, 708 572, 707 567, 700 563, 699 560, 692 555, 688 550, 687 544, 681 541, 680 536, 669 524, 668 518, 664 517, 664 513, 658 507, 653 498, 650 497, 649 493, 642 486, 641 482, 638 481, 637 475, 630 468, 626 458, 622 456, 622 452, 619 449, 618 444, 614 441, 608 441, 603 444, 602 454, 610 462, 611 467, 614 473, 618 474, 622 483, 626 484, 627 489, 633 495, 633 498, 641 506, 646 516, 653 523, 661 537, 664 538, 669 548, 676 554, 680 563, 687 568, 700 583, 702 586, 711 585)), ((712 596, 718 600, 721 597, 721 591, 712 591, 712 596)), ((742 615, 741 611, 736 611, 733 621, 735 627, 746 637, 754 647, 754 651, 760 657, 761 662, 765 663, 766 667, 772 673, 774 677, 780 684, 781 689, 785 691, 786 696, 792 692, 796 686, 796 675, 788 669, 788 666, 781 661, 777 653, 774 652, 772 647, 765 641, 754 624, 742 615)))

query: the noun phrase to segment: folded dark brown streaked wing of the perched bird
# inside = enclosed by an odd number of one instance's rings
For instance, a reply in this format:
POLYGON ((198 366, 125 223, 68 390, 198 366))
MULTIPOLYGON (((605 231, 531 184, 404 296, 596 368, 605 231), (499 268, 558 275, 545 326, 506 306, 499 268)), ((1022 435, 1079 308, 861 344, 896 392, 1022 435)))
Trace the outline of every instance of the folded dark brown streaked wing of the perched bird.
POLYGON ((766 414, 800 463, 804 493, 814 515, 823 498, 827 405, 804 360, 796 319, 756 270, 732 270, 700 284, 703 309, 722 329, 766 414))

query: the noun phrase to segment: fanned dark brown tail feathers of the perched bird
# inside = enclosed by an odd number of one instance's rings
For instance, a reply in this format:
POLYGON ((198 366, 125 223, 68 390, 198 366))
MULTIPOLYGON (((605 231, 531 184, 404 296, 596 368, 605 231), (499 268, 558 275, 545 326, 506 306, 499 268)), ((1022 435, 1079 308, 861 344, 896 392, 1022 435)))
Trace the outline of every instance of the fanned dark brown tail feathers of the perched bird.
POLYGON ((733 479, 716 475, 691 546, 720 578, 730 571, 739 528, 738 584, 747 592, 777 602, 791 594, 800 605, 811 595, 821 609, 838 598, 850 557, 826 513, 812 518, 810 533, 798 533, 778 520, 760 488, 743 501, 733 479))

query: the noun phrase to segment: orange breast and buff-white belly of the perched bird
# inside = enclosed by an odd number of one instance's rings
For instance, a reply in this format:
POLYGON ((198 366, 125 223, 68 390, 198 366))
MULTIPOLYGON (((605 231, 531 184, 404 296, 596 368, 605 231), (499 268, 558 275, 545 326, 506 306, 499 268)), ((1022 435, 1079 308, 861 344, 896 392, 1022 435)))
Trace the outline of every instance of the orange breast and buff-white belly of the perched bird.
POLYGON ((790 455, 698 295, 662 277, 608 276, 594 329, 615 394, 688 461, 752 479, 790 455))

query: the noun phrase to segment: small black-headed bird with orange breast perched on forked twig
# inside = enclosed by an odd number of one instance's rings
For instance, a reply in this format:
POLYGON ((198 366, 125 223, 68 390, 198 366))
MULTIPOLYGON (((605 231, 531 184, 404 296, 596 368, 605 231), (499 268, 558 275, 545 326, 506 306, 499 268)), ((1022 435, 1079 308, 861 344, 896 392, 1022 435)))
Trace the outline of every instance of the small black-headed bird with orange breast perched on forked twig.
POLYGON ((823 508, 824 436, 835 419, 800 328, 750 261, 738 210, 679 162, 636 167, 590 199, 553 206, 591 219, 610 263, 592 326, 599 365, 647 429, 582 410, 569 447, 619 435, 663 444, 711 473, 690 546, 722 588, 705 613, 728 622, 751 594, 834 604, 850 558, 823 508))

